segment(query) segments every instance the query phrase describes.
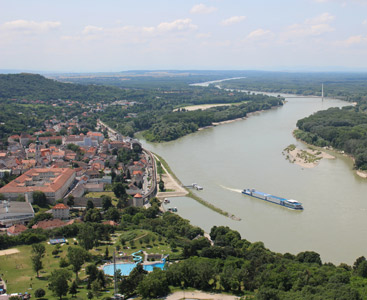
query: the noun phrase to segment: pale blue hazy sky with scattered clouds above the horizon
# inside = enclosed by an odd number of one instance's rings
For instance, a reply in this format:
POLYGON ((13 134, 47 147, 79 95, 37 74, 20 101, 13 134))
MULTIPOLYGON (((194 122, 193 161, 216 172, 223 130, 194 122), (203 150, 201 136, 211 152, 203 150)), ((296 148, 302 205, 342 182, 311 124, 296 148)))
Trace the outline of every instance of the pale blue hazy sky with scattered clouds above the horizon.
POLYGON ((367 70, 367 0, 0 0, 0 69, 367 70))

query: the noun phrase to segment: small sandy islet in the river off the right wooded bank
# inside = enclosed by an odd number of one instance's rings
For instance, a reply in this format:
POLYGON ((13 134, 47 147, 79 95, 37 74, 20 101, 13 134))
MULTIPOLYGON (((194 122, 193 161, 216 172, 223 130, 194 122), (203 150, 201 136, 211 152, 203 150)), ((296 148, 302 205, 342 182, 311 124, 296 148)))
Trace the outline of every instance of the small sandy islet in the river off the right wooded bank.
POLYGON ((301 150, 296 148, 294 145, 290 145, 284 149, 283 155, 286 155, 286 159, 291 163, 299 165, 302 168, 314 168, 323 158, 335 159, 335 156, 324 151, 314 149, 301 150))

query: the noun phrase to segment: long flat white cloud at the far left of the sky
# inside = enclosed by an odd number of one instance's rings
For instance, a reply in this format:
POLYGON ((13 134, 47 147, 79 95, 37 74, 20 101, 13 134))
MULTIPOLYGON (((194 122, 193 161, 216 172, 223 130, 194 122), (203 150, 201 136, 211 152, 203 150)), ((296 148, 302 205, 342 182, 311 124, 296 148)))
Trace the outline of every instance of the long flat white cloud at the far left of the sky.
POLYGON ((42 33, 57 29, 60 26, 60 22, 53 21, 35 22, 27 20, 15 20, 4 23, 1 28, 6 31, 20 33, 42 33))

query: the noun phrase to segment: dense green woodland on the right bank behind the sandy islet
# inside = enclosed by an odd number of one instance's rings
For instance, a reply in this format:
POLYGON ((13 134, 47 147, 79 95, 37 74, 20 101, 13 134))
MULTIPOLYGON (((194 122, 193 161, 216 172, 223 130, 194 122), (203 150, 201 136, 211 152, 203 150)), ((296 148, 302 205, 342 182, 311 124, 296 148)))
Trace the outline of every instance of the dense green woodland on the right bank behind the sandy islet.
POLYGON ((367 114, 357 107, 329 108, 297 122, 297 138, 306 143, 331 146, 355 158, 357 169, 367 170, 367 114))

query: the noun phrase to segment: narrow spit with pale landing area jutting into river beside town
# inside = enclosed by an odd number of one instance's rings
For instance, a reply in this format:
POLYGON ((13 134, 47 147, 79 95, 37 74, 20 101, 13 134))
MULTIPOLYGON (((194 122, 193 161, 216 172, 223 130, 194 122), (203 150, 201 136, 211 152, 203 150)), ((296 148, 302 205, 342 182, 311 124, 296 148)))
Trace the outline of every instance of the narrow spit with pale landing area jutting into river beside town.
POLYGON ((166 172, 166 174, 162 174, 162 180, 164 181, 164 186, 168 190, 167 192, 158 192, 157 198, 161 201, 164 200, 164 198, 169 197, 190 197, 191 199, 194 199, 195 201, 199 202, 200 204, 206 206, 207 208, 225 216, 228 217, 234 221, 241 221, 241 218, 236 217, 234 214, 231 214, 229 212, 226 212, 219 207, 216 207, 215 205, 209 203, 208 201, 205 201, 204 199, 200 198, 199 196, 195 195, 192 191, 190 191, 187 188, 183 187, 183 184, 181 181, 177 178, 177 176, 172 172, 171 168, 169 167, 168 163, 159 155, 154 153, 154 156, 160 161, 163 170, 166 172))

